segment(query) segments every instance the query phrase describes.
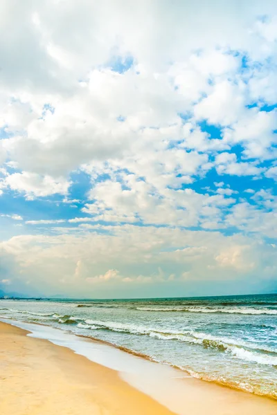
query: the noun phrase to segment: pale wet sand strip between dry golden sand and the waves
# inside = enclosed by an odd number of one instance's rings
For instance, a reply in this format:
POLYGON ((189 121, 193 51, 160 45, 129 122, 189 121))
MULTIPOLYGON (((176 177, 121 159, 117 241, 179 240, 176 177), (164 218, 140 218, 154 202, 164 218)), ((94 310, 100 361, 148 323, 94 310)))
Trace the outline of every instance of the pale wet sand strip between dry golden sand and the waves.
MULTIPOLYGON (((77 339, 79 336, 64 333, 59 329, 51 329, 49 326, 42 324, 37 324, 39 329, 33 328, 32 330, 32 324, 22 322, 16 324, 14 320, 0 322, 0 329, 5 324, 12 329, 21 331, 21 338, 25 338, 26 342, 30 340, 46 342, 48 349, 58 348, 61 355, 64 350, 69 351, 72 362, 75 362, 76 357, 81 357, 89 366, 98 365, 103 371, 112 371, 119 381, 126 383, 129 388, 134 389, 138 394, 152 399, 157 405, 161 406, 159 409, 153 409, 150 414, 175 413, 185 415, 189 413, 196 415, 205 413, 222 415, 226 413, 228 415, 238 415, 251 413, 258 415, 262 412, 265 415, 275 415, 277 413, 275 400, 229 389, 229 387, 212 382, 204 382, 192 376, 184 376, 185 372, 180 369, 177 370, 145 360, 126 351, 116 349, 111 345, 102 344, 99 341, 81 337, 77 339), (17 327, 15 328, 15 326, 17 327), (21 326, 21 329, 18 329, 18 326, 21 326), (26 331, 28 330, 26 327, 31 330, 26 331), (207 409, 210 412, 207 412, 207 409), (224 412, 225 410, 228 410, 228 412, 224 412)), ((5 344, 5 347, 7 349, 8 344, 5 344)), ((93 371, 92 367, 91 371, 93 371)), ((138 398, 141 400, 141 396, 138 398)), ((142 413, 146 414, 148 412, 143 409, 142 413)), ((7 412, 7 415, 10 414, 12 412, 7 412)))

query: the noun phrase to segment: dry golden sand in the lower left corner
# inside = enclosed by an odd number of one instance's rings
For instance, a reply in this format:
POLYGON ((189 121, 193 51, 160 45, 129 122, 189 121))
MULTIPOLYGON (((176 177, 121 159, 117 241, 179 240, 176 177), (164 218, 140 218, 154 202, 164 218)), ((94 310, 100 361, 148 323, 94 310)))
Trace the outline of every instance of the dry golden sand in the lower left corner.
POLYGON ((161 414, 111 369, 0 323, 1 415, 161 414))

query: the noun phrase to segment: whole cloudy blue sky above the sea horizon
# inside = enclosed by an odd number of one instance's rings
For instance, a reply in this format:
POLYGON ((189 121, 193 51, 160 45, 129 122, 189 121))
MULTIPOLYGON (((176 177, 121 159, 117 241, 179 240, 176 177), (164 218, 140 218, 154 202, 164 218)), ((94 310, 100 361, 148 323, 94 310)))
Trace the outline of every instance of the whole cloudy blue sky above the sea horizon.
POLYGON ((276 1, 0 1, 0 289, 277 291, 276 1))

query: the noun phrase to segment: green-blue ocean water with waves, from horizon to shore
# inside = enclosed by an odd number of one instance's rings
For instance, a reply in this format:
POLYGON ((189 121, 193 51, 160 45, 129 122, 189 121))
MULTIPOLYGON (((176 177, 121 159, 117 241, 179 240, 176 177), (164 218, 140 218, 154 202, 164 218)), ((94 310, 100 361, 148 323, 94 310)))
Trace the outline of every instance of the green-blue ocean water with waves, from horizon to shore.
POLYGON ((277 399, 277 294, 0 300, 0 315, 103 340, 196 378, 277 399))

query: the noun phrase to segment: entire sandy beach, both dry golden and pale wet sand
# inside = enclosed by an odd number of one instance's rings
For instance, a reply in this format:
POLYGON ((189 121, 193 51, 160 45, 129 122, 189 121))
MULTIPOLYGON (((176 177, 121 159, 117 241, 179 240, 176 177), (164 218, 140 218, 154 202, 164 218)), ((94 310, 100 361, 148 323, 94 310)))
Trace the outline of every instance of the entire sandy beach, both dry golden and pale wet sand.
MULTIPOLYGON (((136 368, 139 364, 141 371, 134 369, 125 376, 68 347, 29 334, 0 323, 2 415, 277 413, 274 400, 184 376, 184 372, 124 351, 118 351, 118 358, 128 356, 127 365, 134 362, 136 368)), ((86 347, 100 348, 104 356, 113 349, 101 349, 105 345, 89 339, 80 341, 86 347)))

